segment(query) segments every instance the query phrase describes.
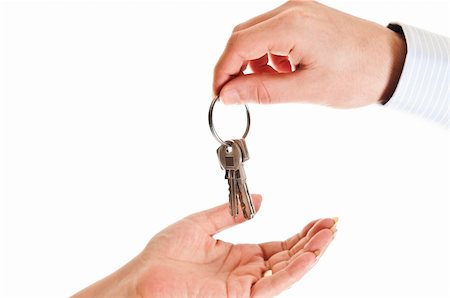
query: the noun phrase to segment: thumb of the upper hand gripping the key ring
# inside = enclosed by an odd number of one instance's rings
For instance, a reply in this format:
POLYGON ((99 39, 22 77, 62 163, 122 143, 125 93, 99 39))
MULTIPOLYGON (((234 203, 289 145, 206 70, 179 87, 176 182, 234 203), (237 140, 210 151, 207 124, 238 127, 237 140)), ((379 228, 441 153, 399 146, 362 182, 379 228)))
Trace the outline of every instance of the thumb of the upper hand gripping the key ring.
POLYGON ((308 81, 311 82, 308 74, 301 71, 242 75, 223 86, 220 91, 220 100, 225 104, 306 101, 311 97, 307 94, 307 89, 311 91, 311 87, 314 86, 308 81))

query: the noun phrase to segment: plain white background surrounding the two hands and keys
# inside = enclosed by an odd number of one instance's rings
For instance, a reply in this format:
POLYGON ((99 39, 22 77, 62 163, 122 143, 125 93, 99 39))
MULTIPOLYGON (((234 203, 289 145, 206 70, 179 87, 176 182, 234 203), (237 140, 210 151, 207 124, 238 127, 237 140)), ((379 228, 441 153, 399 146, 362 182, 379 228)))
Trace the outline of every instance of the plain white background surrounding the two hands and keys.
MULTIPOLYGON (((213 67, 235 25, 281 3, 1 4, 1 296, 68 296, 227 201, 207 124, 213 67)), ((448 2, 325 3, 450 35, 448 2)), ((283 240, 339 216, 283 296, 450 294, 447 130, 379 106, 250 109, 248 185, 264 201, 219 237, 283 240)), ((242 107, 216 115, 222 134, 241 133, 242 107)))

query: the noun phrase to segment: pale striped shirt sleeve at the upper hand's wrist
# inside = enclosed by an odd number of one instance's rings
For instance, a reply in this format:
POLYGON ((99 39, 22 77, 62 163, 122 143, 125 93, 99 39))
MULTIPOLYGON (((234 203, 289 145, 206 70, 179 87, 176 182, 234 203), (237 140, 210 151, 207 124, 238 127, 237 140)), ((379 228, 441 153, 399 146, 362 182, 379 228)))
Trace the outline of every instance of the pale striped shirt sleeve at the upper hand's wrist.
POLYGON ((404 35, 407 54, 391 99, 385 104, 449 127, 450 39, 413 26, 391 23, 404 35))

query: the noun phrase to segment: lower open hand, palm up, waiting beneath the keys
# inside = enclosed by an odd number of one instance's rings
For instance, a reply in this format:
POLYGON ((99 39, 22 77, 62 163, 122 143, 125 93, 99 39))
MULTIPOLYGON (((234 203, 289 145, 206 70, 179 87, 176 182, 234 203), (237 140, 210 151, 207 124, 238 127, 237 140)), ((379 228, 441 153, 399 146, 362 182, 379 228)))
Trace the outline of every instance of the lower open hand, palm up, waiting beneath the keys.
MULTIPOLYGON (((253 195, 256 210, 261 197, 253 195)), ((78 293, 88 296, 274 296, 299 280, 334 237, 335 220, 321 219, 286 241, 231 244, 214 234, 244 221, 228 205, 190 215, 150 240, 122 269, 78 293)))

